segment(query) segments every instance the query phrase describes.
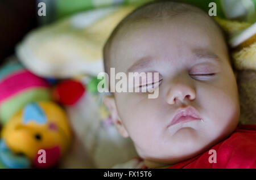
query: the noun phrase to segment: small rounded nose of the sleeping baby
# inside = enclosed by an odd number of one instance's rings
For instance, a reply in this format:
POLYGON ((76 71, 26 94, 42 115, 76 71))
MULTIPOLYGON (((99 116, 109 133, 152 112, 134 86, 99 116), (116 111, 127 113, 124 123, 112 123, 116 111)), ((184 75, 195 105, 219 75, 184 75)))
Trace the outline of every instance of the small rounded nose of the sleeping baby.
POLYGON ((192 85, 180 82, 171 85, 167 92, 166 101, 168 104, 175 104, 178 100, 184 102, 192 101, 195 98, 196 92, 192 85))

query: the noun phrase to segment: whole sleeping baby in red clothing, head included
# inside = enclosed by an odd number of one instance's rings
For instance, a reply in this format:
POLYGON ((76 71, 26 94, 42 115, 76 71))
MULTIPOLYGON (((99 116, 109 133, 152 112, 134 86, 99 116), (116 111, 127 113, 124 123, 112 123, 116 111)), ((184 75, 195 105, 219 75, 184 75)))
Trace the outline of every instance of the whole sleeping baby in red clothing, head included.
POLYGON ((203 10, 180 2, 139 7, 109 37, 104 65, 107 73, 159 73, 151 82, 157 98, 105 98, 119 134, 140 156, 115 168, 256 168, 256 127, 237 127, 238 90, 224 33, 203 10))

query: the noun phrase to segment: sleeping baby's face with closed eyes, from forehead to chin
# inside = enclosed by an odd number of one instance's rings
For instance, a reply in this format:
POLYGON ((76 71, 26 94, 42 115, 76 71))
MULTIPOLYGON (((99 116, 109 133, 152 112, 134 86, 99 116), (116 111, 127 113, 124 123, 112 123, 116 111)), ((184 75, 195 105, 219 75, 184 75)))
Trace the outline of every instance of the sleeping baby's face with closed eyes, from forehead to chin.
POLYGON ((115 73, 159 72, 162 79, 158 98, 115 93, 116 110, 110 109, 119 132, 130 136, 142 158, 185 160, 236 128, 236 78, 220 30, 204 15, 134 25, 113 43, 111 53, 115 73), (198 119, 170 126, 177 110, 189 107, 198 119))

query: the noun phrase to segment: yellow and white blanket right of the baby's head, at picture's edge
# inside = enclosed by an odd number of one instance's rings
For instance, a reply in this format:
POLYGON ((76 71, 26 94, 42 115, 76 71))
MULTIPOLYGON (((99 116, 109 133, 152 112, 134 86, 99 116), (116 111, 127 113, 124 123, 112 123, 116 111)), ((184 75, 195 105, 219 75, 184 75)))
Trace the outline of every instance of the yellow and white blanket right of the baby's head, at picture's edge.
POLYGON ((256 124, 256 23, 216 19, 229 35, 232 62, 237 70, 240 122, 256 124))

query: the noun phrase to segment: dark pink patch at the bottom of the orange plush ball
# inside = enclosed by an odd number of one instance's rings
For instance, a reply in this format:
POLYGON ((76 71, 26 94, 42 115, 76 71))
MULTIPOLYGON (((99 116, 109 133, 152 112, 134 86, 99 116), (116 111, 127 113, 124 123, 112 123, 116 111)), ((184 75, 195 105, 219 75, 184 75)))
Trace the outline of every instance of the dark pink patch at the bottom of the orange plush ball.
POLYGON ((39 153, 36 155, 34 165, 36 168, 53 168, 60 160, 60 148, 59 146, 43 149, 46 153, 39 153), (43 157, 45 155, 45 157, 43 157), (45 163, 42 162, 45 158, 45 163))

